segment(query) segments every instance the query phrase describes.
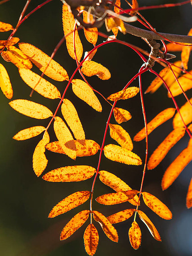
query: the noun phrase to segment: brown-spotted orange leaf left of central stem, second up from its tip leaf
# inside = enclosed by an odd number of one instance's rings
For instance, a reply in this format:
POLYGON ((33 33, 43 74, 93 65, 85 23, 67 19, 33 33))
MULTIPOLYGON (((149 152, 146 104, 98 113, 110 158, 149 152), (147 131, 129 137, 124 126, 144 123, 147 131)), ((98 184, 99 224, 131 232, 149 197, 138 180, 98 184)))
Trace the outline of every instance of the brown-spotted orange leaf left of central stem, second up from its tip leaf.
POLYGON ((90 191, 78 191, 56 204, 48 215, 48 218, 54 218, 60 214, 66 213, 71 209, 85 203, 89 197, 90 191))

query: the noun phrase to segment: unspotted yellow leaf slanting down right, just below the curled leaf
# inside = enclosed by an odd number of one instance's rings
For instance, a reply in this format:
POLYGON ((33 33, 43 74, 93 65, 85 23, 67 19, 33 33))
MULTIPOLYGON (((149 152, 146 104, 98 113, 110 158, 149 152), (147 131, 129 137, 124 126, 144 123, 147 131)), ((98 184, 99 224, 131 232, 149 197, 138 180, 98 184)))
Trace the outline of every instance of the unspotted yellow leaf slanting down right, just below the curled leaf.
POLYGON ((102 111, 101 103, 99 102, 89 85, 87 85, 83 80, 80 79, 73 79, 71 83, 72 90, 77 97, 79 97, 82 101, 85 101, 96 111, 102 111))

